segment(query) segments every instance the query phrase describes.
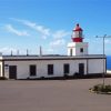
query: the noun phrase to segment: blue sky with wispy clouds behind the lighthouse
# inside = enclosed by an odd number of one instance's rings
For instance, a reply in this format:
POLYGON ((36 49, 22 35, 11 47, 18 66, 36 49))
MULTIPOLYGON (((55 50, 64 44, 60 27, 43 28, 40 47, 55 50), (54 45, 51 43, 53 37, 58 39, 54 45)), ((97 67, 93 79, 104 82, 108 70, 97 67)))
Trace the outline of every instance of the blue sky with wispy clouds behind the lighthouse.
MULTIPOLYGON (((111 0, 0 0, 0 52, 67 54, 72 29, 80 23, 89 53, 102 53, 102 39, 111 36, 111 0)), ((111 38, 105 39, 111 54, 111 38)))

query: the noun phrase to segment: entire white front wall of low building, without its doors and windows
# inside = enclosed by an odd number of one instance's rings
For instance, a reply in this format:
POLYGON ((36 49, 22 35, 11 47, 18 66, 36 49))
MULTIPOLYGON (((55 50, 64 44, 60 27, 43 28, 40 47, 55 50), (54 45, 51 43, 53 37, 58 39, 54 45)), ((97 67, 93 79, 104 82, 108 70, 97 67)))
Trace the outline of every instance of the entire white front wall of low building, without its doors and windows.
MULTIPOLYGON (((69 63, 70 73, 73 75, 75 72, 79 72, 79 63, 84 63, 84 74, 87 72, 92 73, 102 73, 103 72, 103 60, 102 59, 75 59, 75 60, 37 60, 37 61, 6 61, 4 64, 17 65, 17 79, 27 79, 27 78, 40 78, 40 77, 63 77, 63 64, 69 63), (87 65, 88 63, 88 65, 87 65), (30 77, 29 65, 37 65, 37 75, 30 77), (53 64, 53 74, 48 75, 48 64, 53 64)), ((104 64, 105 67, 105 64, 104 64)), ((105 71, 105 69, 104 69, 105 71)), ((4 75, 9 77, 8 69, 4 69, 4 75)))

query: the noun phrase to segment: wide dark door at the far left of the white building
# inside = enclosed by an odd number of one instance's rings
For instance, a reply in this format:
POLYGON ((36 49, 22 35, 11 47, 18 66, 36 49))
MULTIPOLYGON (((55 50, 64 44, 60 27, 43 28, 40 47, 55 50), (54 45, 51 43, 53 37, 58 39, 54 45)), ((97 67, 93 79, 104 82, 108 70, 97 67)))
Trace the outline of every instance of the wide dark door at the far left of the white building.
POLYGON ((17 65, 9 65, 9 79, 17 79, 17 65))

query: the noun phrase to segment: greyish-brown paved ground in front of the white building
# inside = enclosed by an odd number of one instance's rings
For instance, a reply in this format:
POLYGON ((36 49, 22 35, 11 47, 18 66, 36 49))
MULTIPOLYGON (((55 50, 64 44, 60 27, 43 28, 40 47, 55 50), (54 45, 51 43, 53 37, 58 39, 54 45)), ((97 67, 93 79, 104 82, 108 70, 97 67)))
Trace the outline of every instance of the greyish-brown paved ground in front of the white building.
MULTIPOLYGON (((0 81, 0 111, 111 111, 111 95, 90 93, 101 79, 0 81)), ((105 79, 111 83, 111 79, 105 79)))

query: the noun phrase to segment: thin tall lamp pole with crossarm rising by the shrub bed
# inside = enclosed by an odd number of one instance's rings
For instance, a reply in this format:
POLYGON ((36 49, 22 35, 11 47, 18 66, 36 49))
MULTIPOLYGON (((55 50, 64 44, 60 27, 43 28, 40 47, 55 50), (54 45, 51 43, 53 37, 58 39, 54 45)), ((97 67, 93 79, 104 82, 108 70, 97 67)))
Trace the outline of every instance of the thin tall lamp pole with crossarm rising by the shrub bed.
POLYGON ((103 37, 95 37, 95 38, 102 38, 102 43, 103 43, 103 74, 102 74, 102 79, 103 79, 103 87, 104 87, 104 74, 105 74, 105 72, 104 72, 104 67, 107 65, 105 64, 105 60, 104 60, 104 58, 105 58, 105 53, 104 53, 104 39, 105 38, 111 38, 111 36, 107 36, 107 34, 104 34, 103 37))

